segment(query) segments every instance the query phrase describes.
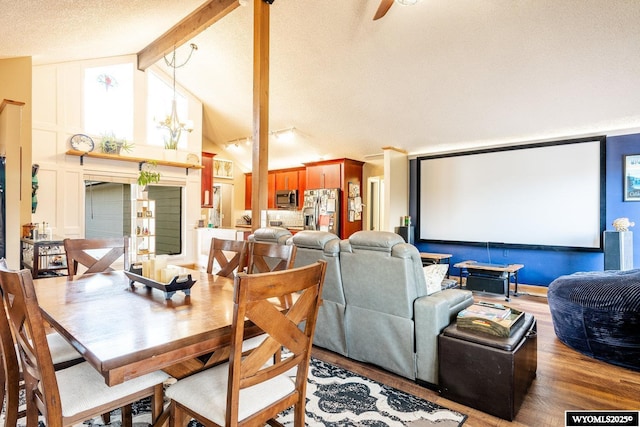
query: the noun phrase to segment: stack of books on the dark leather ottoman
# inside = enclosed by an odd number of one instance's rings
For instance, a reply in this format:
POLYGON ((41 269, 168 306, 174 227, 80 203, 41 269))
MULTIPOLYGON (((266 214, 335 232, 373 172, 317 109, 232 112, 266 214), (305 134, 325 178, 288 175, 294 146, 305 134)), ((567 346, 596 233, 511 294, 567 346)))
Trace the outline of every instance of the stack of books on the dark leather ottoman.
POLYGON ((458 313, 458 328, 509 337, 524 313, 502 304, 477 302, 458 313))

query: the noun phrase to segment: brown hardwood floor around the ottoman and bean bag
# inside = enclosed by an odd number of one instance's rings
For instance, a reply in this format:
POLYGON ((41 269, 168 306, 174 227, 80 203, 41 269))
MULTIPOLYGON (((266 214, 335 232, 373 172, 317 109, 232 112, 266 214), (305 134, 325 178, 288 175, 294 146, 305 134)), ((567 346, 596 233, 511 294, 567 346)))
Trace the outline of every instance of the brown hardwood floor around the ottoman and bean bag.
MULTIPOLYGON (((476 300, 504 302, 501 296, 476 294, 476 300)), ((437 392, 371 365, 314 348, 313 355, 468 415, 465 427, 564 426, 565 410, 640 410, 640 372, 588 358, 562 344, 553 331, 546 298, 521 295, 512 307, 532 313, 538 322, 537 377, 515 420, 509 422, 442 398, 437 392)))

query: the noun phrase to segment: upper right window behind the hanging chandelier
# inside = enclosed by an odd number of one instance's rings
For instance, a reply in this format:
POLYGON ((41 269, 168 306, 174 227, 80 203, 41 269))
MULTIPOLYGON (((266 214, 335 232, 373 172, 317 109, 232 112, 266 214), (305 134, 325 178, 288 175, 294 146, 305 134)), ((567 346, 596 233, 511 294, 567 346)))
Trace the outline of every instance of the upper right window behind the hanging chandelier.
MULTIPOLYGON (((158 121, 164 120, 171 114, 173 86, 152 71, 148 73, 148 76, 147 143, 149 145, 164 145, 165 138, 168 137, 168 131, 166 129, 159 128, 158 121)), ((180 120, 186 120, 189 113, 187 98, 177 90, 176 106, 180 120)), ((186 134, 188 134, 188 132, 182 132, 178 148, 187 148, 186 134)))

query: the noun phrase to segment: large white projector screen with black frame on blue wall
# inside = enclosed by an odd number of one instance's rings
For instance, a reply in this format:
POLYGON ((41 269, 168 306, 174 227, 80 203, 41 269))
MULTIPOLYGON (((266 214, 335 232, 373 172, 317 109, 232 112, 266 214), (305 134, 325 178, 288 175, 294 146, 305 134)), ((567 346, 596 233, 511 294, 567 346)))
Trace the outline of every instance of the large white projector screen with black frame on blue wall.
POLYGON ((418 158, 423 241, 600 250, 605 137, 418 158))

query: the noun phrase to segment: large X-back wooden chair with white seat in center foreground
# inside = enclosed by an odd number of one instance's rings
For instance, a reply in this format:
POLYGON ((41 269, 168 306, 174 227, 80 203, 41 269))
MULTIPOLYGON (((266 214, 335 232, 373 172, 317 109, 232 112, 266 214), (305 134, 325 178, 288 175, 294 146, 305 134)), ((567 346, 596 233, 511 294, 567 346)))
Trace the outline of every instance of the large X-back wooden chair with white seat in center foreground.
POLYGON ((189 418, 205 425, 279 425, 276 416, 294 406, 294 425, 305 425, 305 401, 311 344, 321 301, 326 262, 270 273, 239 273, 235 279, 229 362, 199 372, 166 390, 170 425, 189 418), (289 310, 269 301, 296 293, 289 310), (245 319, 267 338, 243 356, 245 319), (305 322, 300 329, 299 325, 305 322), (284 347, 287 357, 274 359, 284 347), (295 372, 295 373, 293 373, 295 372))

